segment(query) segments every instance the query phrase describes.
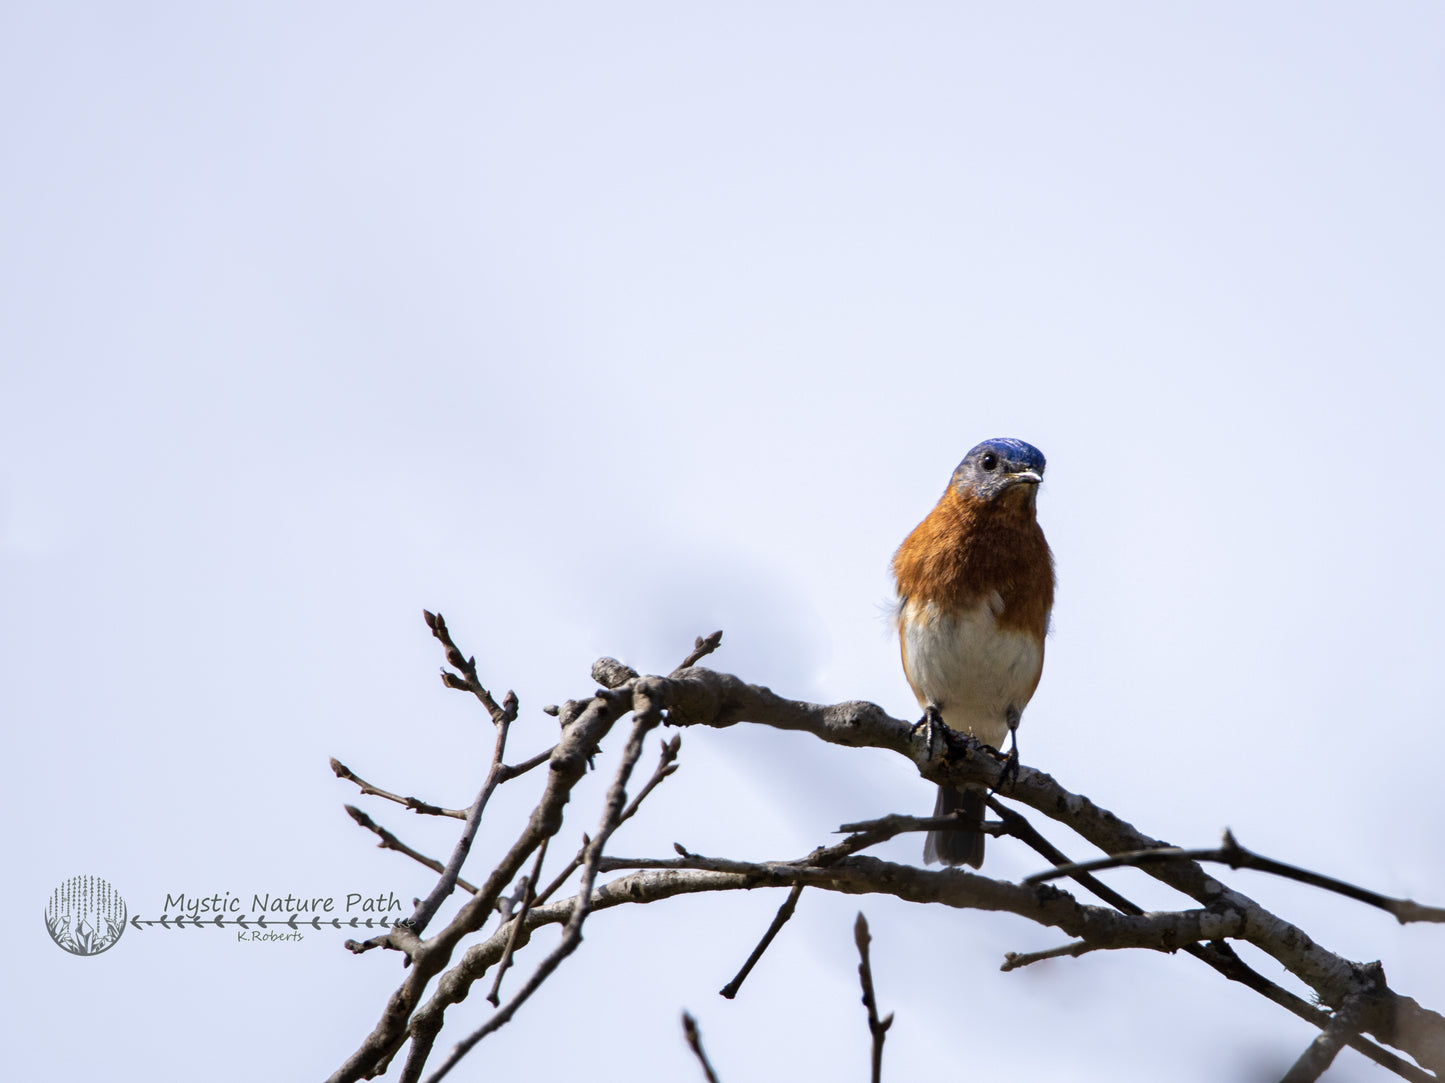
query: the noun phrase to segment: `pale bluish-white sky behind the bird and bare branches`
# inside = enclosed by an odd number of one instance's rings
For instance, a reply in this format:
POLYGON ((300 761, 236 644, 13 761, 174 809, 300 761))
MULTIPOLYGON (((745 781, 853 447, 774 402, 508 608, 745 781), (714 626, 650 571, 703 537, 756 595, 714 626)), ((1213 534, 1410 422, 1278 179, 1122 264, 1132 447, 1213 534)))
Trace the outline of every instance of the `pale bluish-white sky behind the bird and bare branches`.
MULTIPOLYGON (((78 872, 143 911, 425 892, 327 769, 470 800, 490 726, 423 606, 517 690, 519 756, 597 655, 665 671, 714 628, 718 668, 910 717, 889 557, 993 435, 1049 457, 1025 759, 1172 842, 1445 901, 1438 6, 12 3, 0 91, 4 1074, 355 1047, 394 956, 78 960, 40 912, 78 872)), ((618 852, 792 857, 932 802, 751 727, 682 763, 618 852)), ((1445 1009, 1432 930, 1233 882, 1445 1009)), ((597 917, 464 1076, 546 1043, 543 1077, 689 1079, 683 1006, 725 1080, 861 1076, 858 899, 806 895, 715 996, 777 901, 597 917)), ((863 908, 893 1077, 1269 1077, 1309 1040, 1188 959, 1000 975, 1061 937, 863 908)))

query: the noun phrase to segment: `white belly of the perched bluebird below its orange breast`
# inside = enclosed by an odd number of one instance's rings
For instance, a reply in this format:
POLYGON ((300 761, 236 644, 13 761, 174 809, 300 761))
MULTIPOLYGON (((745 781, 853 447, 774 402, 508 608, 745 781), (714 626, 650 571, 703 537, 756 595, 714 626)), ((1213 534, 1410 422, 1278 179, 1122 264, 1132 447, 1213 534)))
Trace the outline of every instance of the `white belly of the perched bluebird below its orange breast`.
POLYGON ((951 729, 1001 748, 1009 709, 1023 711, 1039 682, 1043 646, 1025 632, 1000 630, 987 603, 946 617, 909 602, 899 616, 903 672, 919 706, 932 703, 951 729))

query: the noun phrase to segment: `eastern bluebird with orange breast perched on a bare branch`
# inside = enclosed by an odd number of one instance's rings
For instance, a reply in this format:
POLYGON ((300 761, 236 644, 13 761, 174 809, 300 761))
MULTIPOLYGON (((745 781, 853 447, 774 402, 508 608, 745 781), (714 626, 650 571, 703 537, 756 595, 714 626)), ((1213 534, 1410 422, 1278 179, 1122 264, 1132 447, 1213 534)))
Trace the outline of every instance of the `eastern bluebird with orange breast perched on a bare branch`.
MULTIPOLYGON (((996 749, 1013 733, 1014 756, 1053 609, 1053 555, 1035 519, 1042 480, 1039 448, 985 440, 893 554, 903 672, 925 720, 996 749)), ((977 869, 983 791, 939 787, 933 816, 955 811, 972 830, 929 831, 923 860, 977 869)))

